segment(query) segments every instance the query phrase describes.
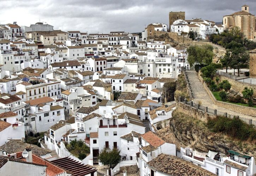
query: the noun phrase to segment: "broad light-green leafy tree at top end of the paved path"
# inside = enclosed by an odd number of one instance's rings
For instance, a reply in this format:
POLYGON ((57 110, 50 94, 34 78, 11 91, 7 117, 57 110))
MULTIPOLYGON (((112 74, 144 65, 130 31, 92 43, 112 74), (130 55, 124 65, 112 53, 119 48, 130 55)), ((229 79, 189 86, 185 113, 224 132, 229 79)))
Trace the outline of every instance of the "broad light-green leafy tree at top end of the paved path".
POLYGON ((192 45, 187 49, 189 54, 187 61, 190 65, 206 64, 209 65, 213 61, 213 46, 206 44, 202 46, 192 45))

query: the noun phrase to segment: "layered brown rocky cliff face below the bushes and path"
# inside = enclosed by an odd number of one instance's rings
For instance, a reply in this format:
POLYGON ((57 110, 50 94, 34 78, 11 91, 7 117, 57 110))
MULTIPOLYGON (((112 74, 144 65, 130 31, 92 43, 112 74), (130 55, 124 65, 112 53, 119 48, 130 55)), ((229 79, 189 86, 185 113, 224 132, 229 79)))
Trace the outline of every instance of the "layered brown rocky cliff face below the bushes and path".
POLYGON ((226 153, 227 150, 234 150, 256 156, 255 142, 241 142, 224 134, 211 132, 204 122, 177 110, 172 113, 170 130, 180 142, 198 151, 226 153))

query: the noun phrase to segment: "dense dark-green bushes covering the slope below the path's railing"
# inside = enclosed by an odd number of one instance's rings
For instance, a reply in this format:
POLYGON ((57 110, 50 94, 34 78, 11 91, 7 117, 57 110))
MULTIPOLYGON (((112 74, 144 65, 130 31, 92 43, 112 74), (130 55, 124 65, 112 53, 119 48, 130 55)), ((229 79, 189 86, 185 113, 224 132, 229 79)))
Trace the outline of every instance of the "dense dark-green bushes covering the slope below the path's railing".
POLYGON ((213 132, 222 132, 234 139, 256 140, 256 129, 238 118, 216 117, 209 119, 207 127, 213 132))

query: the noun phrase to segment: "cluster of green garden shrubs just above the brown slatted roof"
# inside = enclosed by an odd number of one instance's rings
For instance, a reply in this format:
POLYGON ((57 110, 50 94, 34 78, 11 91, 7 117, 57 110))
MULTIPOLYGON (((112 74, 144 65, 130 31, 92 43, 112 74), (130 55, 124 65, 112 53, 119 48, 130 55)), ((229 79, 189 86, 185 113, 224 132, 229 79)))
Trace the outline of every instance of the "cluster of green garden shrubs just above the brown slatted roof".
POLYGON ((88 147, 82 139, 71 140, 69 144, 67 142, 64 142, 64 144, 66 146, 66 149, 69 150, 72 155, 76 156, 81 160, 86 158, 87 155, 90 153, 90 147, 88 147))

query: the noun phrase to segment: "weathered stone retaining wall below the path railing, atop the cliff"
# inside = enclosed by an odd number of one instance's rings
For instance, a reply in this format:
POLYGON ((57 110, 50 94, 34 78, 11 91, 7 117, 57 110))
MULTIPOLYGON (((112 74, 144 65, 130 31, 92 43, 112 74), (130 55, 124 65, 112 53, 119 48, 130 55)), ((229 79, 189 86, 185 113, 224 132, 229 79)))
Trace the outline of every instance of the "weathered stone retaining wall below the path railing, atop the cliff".
POLYGON ((178 102, 178 106, 176 107, 177 111, 187 114, 189 116, 192 116, 194 118, 197 118, 198 120, 201 120, 203 122, 208 121, 208 118, 215 118, 216 116, 204 111, 201 111, 200 109, 191 107, 190 105, 185 105, 182 102, 178 102))

